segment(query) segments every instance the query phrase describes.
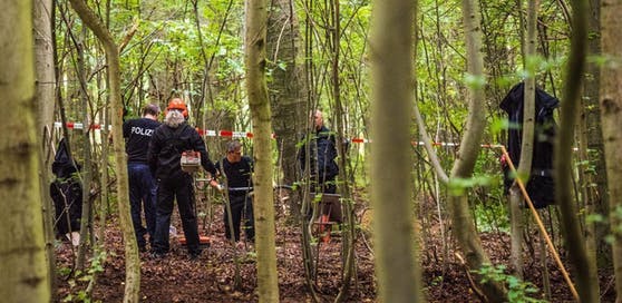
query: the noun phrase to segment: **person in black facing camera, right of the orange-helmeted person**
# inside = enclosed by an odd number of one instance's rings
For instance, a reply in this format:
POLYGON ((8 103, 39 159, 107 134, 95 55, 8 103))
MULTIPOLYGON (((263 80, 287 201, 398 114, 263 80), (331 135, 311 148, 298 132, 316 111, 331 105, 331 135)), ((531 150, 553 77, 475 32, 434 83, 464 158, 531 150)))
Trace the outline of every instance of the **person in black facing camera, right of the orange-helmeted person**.
MULTIPOLYGON (((253 218, 253 198, 249 193, 253 189, 253 160, 242 156, 242 144, 239 140, 229 141, 226 156, 221 163, 216 163, 218 174, 226 177, 226 189, 229 190, 229 203, 233 222, 233 235, 235 242, 240 241, 240 224, 244 218, 244 232, 246 241, 254 243, 255 227, 253 218), (221 168, 222 163, 222 168, 221 168)), ((224 209, 225 236, 231 240, 231 227, 229 212, 224 209)))

